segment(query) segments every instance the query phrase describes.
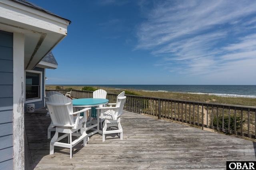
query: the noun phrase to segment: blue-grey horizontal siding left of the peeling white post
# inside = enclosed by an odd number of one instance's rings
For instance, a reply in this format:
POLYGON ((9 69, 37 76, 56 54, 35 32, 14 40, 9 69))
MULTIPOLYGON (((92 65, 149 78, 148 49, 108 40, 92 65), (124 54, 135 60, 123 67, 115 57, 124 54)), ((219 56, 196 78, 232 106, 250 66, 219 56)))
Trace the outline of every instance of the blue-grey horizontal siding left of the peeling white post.
POLYGON ((0 31, 0 169, 13 169, 13 34, 0 31))

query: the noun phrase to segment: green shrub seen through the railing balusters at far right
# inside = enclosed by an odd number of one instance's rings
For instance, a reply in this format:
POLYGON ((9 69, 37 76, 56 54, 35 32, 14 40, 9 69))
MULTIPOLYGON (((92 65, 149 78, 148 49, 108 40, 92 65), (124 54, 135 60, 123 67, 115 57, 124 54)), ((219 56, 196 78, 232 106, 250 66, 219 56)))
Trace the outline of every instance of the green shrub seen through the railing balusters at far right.
MULTIPOLYGON (((218 127, 222 127, 222 115, 218 118, 218 127)), ((213 118, 213 125, 217 127, 217 117, 213 118)), ((236 127, 240 127, 241 125, 241 117, 236 117, 236 127)), ((230 130, 234 131, 235 126, 235 117, 234 115, 230 115, 230 130)), ((228 115, 224 115, 224 129, 228 129, 228 115)))

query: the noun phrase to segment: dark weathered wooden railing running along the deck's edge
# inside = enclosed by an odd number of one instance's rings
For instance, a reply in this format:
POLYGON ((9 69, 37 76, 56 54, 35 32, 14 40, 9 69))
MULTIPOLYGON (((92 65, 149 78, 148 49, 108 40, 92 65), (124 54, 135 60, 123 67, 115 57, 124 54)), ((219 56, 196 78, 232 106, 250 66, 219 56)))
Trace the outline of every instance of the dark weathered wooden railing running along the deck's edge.
MULTIPOLYGON (((65 94, 70 90, 56 90, 65 94)), ((117 93, 108 93, 110 103, 116 102, 117 93)), ((92 98, 92 92, 72 90, 74 98, 92 98)), ((216 104, 125 95, 124 109, 135 113, 145 113, 190 125, 215 129, 224 133, 256 138, 256 107, 216 104), (218 118, 218 119, 217 119, 218 118)))

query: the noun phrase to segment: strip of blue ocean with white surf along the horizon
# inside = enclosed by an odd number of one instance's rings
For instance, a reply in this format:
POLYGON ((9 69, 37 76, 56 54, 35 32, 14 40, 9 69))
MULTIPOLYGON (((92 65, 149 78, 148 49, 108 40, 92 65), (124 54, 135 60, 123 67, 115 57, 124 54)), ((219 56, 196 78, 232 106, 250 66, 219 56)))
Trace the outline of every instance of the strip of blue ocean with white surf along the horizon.
MULTIPOLYGON (((71 85, 62 85, 71 86, 71 85)), ((224 97, 256 98, 256 85, 72 85, 96 86, 115 89, 133 89, 152 92, 208 94, 224 97)))

